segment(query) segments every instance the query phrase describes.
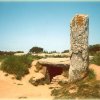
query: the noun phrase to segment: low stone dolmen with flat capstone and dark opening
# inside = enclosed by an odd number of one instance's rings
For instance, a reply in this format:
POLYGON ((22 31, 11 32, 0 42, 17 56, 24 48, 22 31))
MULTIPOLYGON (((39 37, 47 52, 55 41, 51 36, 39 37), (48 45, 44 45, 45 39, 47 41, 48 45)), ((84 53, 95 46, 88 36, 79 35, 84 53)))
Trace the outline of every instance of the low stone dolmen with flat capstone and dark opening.
POLYGON ((50 82, 58 83, 58 81, 61 80, 64 80, 65 82, 65 78, 68 77, 69 65, 69 58, 40 59, 35 65, 34 71, 36 74, 30 79, 29 82, 33 85, 49 84, 50 82))

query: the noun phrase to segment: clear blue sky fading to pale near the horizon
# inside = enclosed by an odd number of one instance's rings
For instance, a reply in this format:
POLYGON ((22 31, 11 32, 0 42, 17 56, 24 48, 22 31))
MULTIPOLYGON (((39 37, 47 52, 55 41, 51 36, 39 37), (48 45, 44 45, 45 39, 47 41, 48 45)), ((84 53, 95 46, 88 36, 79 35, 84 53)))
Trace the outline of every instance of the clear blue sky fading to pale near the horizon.
POLYGON ((89 45, 100 44, 100 2, 0 2, 0 51, 69 49, 76 14, 89 15, 89 45))

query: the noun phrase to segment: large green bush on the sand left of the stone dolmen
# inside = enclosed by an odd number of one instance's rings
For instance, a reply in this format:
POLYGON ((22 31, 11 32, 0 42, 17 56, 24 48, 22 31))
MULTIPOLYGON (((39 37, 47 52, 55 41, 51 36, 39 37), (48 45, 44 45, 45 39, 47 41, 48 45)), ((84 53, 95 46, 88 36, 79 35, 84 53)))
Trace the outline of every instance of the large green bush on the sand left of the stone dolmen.
POLYGON ((7 56, 1 57, 1 70, 8 74, 15 75, 16 79, 20 80, 23 76, 29 73, 29 68, 34 59, 39 59, 39 56, 23 55, 23 56, 7 56))

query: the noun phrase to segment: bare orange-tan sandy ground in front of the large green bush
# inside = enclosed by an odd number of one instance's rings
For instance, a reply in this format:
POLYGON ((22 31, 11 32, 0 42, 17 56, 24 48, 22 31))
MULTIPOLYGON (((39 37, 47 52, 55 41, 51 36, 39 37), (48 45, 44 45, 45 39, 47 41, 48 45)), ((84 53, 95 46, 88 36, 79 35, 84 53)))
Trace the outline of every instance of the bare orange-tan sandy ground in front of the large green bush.
POLYGON ((12 75, 5 76, 6 73, 0 71, 0 99, 53 99, 48 85, 35 87, 28 82, 34 74, 35 63, 36 61, 32 63, 30 74, 26 75, 21 81, 12 79, 12 75))

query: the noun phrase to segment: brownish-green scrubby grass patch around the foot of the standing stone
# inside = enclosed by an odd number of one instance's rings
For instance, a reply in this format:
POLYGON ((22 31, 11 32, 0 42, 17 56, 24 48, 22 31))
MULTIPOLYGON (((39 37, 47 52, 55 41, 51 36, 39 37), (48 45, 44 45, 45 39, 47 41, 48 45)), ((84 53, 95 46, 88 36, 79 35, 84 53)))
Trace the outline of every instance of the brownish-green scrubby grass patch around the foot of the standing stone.
POLYGON ((93 70, 89 70, 88 76, 83 80, 61 85, 61 88, 51 92, 55 99, 100 99, 100 81, 95 79, 93 70), (71 93, 71 90, 75 92, 71 93))

